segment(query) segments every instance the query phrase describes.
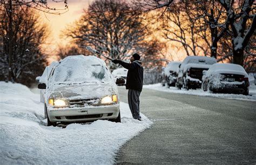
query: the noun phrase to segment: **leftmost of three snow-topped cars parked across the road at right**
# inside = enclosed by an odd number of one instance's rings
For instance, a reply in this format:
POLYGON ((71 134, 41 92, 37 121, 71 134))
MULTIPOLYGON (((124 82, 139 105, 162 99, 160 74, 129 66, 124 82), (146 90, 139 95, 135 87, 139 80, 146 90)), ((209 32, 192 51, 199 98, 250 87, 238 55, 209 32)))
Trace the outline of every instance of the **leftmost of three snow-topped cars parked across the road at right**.
POLYGON ((177 81, 177 70, 180 64, 181 62, 179 61, 172 61, 164 68, 164 75, 162 75, 163 78, 161 80, 163 86, 175 86, 177 81))

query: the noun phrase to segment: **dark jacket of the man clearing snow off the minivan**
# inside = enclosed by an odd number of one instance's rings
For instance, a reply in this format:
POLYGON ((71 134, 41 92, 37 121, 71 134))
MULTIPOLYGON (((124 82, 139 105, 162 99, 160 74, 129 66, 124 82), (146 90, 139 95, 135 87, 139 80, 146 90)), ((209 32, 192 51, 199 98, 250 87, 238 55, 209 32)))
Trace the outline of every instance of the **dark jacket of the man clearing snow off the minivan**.
POLYGON ((131 64, 129 64, 119 60, 118 63, 128 70, 126 89, 142 91, 144 71, 142 62, 133 61, 131 64))

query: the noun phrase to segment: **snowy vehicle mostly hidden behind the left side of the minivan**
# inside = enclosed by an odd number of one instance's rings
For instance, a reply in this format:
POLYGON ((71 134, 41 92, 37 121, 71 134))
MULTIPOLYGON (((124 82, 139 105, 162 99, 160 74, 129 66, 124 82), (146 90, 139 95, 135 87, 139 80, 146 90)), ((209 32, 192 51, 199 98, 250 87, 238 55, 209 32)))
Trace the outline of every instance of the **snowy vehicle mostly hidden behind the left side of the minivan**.
MULTIPOLYGON (((46 66, 43 74, 41 76, 36 77, 36 81, 38 83, 47 84, 50 72, 51 72, 53 66, 55 66, 57 63, 58 63, 57 61, 52 61, 51 65, 46 66)), ((40 102, 44 102, 44 93, 45 93, 45 90, 40 90, 40 102)))

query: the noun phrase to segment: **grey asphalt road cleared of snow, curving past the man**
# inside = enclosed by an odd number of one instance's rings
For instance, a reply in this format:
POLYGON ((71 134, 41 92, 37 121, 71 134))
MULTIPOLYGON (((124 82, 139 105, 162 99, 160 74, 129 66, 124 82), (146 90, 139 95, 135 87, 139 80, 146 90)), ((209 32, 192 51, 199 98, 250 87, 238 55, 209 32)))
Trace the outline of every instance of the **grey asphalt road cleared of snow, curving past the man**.
MULTIPOLYGON (((119 94, 127 102, 124 87, 119 94)), ((256 163, 256 102, 143 89, 140 111, 154 123, 117 164, 256 163)))

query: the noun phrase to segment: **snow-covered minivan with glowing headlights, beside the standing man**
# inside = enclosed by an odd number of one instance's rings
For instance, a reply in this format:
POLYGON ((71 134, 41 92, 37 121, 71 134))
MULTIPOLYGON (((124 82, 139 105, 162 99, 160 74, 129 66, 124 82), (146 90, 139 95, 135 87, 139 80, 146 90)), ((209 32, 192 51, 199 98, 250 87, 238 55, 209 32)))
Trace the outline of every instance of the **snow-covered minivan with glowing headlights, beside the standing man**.
POLYGON ((121 122, 117 85, 105 62, 95 56, 68 56, 56 64, 44 97, 48 126, 58 122, 86 122, 105 119, 121 122))

